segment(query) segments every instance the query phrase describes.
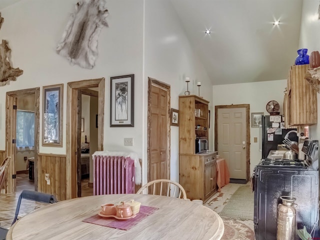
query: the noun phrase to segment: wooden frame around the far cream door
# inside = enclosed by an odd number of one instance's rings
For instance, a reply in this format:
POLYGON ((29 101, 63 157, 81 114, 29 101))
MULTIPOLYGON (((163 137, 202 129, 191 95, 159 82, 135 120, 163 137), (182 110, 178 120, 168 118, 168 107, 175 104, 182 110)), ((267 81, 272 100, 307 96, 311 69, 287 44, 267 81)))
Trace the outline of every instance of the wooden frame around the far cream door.
POLYGON ((250 179, 250 104, 216 105, 214 106, 214 149, 218 149, 218 109, 220 108, 245 108, 246 122, 246 180, 250 179))

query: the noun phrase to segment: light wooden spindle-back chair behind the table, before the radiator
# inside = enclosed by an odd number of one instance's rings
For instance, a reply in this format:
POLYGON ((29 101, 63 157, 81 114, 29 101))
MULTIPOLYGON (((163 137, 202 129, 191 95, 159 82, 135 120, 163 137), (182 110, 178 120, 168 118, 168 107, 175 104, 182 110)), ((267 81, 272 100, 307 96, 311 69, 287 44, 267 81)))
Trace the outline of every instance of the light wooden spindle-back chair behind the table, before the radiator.
POLYGON ((149 181, 141 186, 137 194, 166 195, 186 200, 184 188, 177 182, 169 179, 157 179, 149 181))

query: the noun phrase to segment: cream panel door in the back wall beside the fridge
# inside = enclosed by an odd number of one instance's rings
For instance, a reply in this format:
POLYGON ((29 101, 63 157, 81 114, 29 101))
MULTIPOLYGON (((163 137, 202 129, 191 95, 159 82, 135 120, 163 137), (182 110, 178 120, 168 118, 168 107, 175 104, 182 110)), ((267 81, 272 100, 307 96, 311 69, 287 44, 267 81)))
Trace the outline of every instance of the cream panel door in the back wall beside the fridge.
POLYGON ((246 109, 218 109, 218 154, 225 158, 230 178, 246 179, 246 109))

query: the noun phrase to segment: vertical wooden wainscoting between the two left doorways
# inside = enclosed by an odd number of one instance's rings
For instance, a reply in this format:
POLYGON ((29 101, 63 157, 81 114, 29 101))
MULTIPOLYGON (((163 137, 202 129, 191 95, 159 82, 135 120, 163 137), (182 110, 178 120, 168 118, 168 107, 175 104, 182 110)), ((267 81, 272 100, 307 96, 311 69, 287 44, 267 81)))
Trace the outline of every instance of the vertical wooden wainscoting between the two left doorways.
POLYGON ((57 200, 66 199, 65 180, 66 155, 38 153, 38 191, 55 195, 57 200), (50 184, 44 179, 45 173, 50 174, 50 184))

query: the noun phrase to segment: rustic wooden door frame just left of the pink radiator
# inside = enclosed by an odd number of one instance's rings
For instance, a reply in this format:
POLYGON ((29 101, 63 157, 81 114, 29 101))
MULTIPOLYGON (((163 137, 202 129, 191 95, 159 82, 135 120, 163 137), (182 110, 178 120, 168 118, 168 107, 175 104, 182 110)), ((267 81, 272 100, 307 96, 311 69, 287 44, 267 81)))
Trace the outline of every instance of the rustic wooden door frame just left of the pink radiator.
POLYGON ((98 146, 99 151, 103 150, 103 129, 104 129, 104 77, 86 79, 67 83, 66 100, 66 199, 77 197, 77 152, 78 149, 78 97, 81 97, 81 90, 86 88, 98 88, 98 146))

